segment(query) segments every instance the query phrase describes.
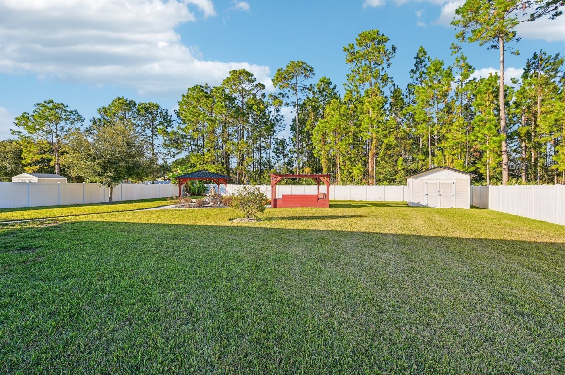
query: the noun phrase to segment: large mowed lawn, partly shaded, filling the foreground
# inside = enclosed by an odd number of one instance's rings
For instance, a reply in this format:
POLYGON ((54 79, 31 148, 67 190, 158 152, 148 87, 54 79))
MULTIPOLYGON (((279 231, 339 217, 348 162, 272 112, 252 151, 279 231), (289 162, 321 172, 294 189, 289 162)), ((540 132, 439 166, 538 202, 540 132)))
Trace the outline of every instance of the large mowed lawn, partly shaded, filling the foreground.
POLYGON ((565 372, 565 227, 333 202, 0 226, 0 373, 565 372))

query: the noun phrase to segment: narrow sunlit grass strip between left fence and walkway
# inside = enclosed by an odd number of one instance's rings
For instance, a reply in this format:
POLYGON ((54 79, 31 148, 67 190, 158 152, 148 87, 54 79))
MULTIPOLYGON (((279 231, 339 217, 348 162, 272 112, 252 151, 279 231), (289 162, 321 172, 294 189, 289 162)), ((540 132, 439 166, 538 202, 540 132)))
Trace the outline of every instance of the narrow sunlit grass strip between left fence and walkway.
POLYGON ((136 201, 112 203, 91 203, 84 205, 41 206, 0 209, 0 222, 28 219, 60 218, 77 215, 105 214, 142 210, 171 204, 167 198, 151 198, 136 201))

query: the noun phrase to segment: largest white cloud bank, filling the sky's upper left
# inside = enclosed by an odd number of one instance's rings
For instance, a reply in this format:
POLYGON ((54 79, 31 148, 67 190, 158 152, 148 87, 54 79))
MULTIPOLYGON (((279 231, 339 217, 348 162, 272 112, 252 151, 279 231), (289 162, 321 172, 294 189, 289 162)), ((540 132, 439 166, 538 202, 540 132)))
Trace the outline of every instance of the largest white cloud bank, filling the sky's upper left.
POLYGON ((175 28, 196 19, 189 7, 215 14, 210 0, 3 0, 0 71, 178 95, 247 69, 272 87, 268 67, 205 60, 183 45, 175 28))

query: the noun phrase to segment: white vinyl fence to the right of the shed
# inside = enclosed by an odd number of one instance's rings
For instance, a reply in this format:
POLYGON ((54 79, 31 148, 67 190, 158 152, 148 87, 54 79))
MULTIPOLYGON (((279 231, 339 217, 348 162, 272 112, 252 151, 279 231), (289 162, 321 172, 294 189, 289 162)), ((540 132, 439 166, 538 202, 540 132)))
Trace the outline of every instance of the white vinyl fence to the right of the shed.
POLYGON ((471 186, 471 205, 565 225, 565 185, 471 186))

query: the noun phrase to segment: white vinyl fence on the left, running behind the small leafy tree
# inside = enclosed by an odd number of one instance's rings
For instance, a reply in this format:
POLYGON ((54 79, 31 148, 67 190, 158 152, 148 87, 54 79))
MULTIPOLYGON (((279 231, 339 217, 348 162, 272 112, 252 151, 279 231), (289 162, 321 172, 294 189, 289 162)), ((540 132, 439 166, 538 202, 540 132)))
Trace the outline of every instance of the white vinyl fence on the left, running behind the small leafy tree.
MULTIPOLYGON (((0 182, 0 208, 57 206, 108 201, 108 189, 94 183, 0 182)), ((112 200, 130 201, 178 195, 174 184, 119 184, 112 200)))

